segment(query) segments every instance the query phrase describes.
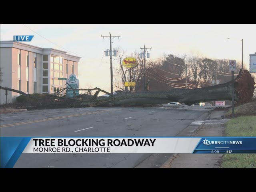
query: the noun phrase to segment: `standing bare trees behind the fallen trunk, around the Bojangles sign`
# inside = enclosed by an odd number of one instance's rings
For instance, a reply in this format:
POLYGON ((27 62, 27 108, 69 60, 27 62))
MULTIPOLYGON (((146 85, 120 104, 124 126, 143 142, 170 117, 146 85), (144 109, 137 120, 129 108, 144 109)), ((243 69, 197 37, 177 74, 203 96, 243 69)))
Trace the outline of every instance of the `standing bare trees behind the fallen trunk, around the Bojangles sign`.
MULTIPOLYGON (((146 76, 146 90, 169 90, 173 88, 192 89, 226 83, 231 80, 228 59, 212 59, 197 53, 182 56, 164 54, 162 58, 146 59, 144 70, 144 58, 139 58, 139 52, 135 51, 129 56, 135 57, 139 64, 132 68, 131 74, 128 68, 122 66, 122 60, 128 56, 123 48, 118 47, 118 67, 115 68, 115 90, 128 91, 124 82, 136 82, 132 91, 144 90, 146 76), (187 75, 186 75, 187 74, 187 75)), ((241 63, 236 62, 234 78, 239 73, 241 63)))

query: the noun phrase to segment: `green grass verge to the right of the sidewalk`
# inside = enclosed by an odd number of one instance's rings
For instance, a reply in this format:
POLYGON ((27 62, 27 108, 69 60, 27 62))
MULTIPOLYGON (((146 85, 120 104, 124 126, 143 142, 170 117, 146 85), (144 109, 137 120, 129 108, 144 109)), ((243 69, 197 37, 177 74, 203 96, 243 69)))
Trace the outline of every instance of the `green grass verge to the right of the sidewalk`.
MULTIPOLYGON (((240 116, 225 126, 225 136, 256 136, 256 116, 240 116)), ((256 154, 224 154, 221 167, 256 168, 256 154)))

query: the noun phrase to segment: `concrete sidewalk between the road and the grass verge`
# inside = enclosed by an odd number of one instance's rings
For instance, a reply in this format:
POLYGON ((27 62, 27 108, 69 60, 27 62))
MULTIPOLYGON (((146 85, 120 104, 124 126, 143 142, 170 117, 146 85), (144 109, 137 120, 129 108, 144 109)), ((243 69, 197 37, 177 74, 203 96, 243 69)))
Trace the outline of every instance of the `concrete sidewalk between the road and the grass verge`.
MULTIPOLYGON (((223 136, 223 119, 225 110, 214 110, 208 120, 195 121, 194 124, 202 124, 201 128, 192 136, 223 136)), ((175 154, 160 168, 219 168, 222 154, 175 154)))

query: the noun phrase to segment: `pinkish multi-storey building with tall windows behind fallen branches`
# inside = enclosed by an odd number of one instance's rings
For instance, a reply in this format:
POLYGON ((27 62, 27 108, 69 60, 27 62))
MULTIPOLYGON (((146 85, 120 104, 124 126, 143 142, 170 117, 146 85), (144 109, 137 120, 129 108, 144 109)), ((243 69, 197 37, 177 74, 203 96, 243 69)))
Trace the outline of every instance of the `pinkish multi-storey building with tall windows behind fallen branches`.
MULTIPOLYGON (((61 50, 40 48, 13 41, 0 42, 0 67, 3 72, 2 87, 22 92, 53 94, 65 87, 70 74, 78 76, 80 57, 61 50)), ((20 94, 0 90, 0 104, 16 102, 20 94)))

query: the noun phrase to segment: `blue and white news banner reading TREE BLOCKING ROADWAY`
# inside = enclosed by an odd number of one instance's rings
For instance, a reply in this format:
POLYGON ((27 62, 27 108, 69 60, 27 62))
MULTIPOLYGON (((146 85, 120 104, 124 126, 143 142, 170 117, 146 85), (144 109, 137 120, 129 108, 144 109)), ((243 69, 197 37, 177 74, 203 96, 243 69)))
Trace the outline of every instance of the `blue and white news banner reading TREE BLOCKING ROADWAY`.
POLYGON ((256 137, 0 137, 1 168, 22 153, 256 153, 256 137))

